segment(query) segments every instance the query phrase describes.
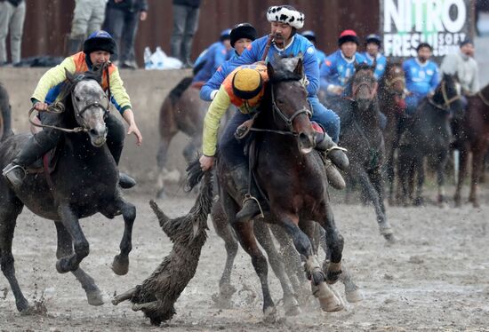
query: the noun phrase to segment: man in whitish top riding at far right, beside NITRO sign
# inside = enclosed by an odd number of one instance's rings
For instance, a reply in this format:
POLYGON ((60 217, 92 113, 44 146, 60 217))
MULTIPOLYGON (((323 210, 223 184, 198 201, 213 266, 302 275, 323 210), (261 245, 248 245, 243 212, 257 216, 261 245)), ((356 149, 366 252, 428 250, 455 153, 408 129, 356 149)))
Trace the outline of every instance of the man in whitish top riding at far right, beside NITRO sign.
POLYGON ((474 59, 474 43, 465 39, 460 43, 460 50, 445 55, 440 71, 448 75, 457 75, 461 83, 461 102, 467 107, 467 97, 479 91, 477 62, 474 59))

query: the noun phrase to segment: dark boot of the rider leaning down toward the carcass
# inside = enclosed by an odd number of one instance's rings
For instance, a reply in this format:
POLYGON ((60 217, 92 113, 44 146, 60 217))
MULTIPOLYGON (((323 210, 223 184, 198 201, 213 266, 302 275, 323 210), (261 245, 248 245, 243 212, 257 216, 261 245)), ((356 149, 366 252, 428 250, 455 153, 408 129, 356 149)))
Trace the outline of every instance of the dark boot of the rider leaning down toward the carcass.
POLYGON ((236 166, 230 170, 236 185, 236 189, 243 199, 243 207, 236 213, 236 223, 244 223, 261 214, 260 206, 256 201, 258 198, 248 196, 248 168, 246 165, 236 166))

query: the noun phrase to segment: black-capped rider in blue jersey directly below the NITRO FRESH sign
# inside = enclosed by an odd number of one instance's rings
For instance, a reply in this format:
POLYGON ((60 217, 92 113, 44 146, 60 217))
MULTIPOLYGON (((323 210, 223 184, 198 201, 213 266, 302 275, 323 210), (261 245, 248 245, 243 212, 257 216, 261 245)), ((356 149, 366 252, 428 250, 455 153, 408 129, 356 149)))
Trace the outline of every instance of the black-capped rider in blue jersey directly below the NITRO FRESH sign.
POLYGON ((416 58, 405 60, 405 87, 408 91, 405 99, 406 114, 413 115, 418 103, 425 97, 431 97, 440 81, 438 66, 429 60, 433 48, 429 43, 420 43, 416 47, 416 58))

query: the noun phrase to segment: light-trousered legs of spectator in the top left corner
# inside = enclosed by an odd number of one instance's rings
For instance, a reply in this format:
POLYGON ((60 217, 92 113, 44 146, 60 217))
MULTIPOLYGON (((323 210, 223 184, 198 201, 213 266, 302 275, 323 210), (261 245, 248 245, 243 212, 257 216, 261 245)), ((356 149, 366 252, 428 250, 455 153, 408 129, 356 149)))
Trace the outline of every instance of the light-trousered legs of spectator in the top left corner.
POLYGON ((20 62, 20 45, 25 17, 26 3, 24 0, 0 0, 0 66, 7 63, 5 39, 9 33, 9 27, 12 64, 20 62))

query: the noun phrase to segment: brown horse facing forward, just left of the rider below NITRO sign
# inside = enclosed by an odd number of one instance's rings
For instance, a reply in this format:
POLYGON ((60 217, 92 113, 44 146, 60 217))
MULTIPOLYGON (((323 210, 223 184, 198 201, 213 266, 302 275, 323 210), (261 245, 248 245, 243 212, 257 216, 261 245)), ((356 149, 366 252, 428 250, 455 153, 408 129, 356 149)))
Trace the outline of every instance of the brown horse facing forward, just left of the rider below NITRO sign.
POLYGON ((385 142, 385 170, 389 184, 389 204, 394 202, 396 180, 396 150, 399 143, 399 121, 405 113, 405 72, 400 63, 387 64, 379 84, 379 107, 386 115, 383 130, 385 142))

